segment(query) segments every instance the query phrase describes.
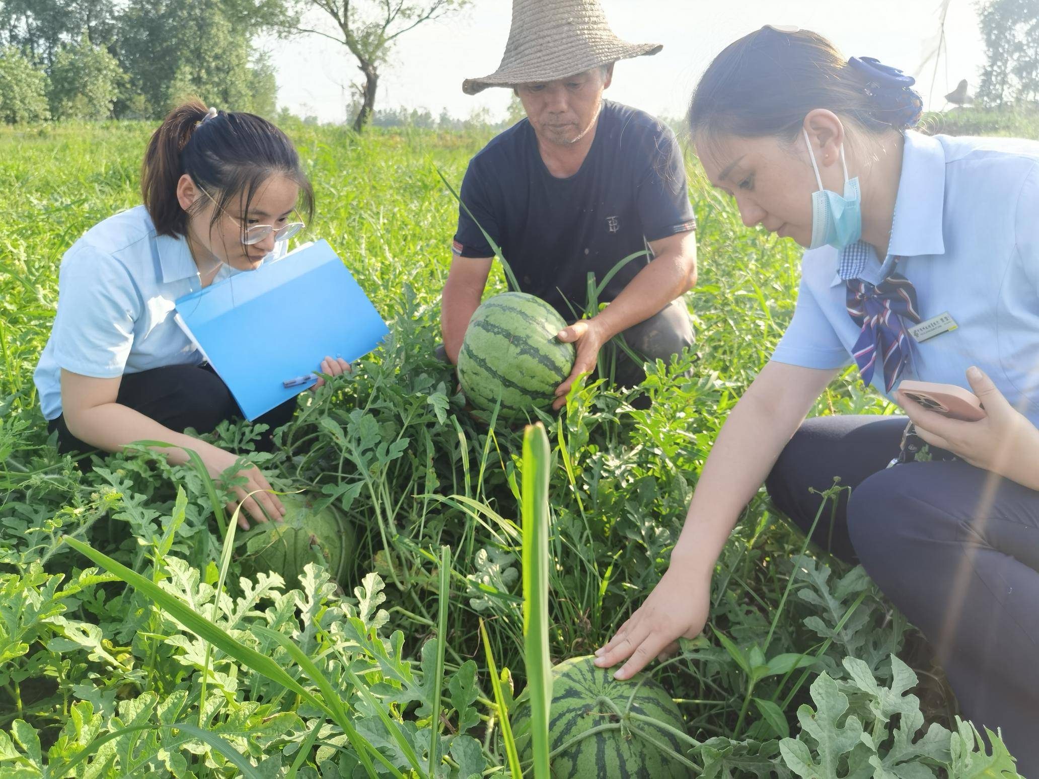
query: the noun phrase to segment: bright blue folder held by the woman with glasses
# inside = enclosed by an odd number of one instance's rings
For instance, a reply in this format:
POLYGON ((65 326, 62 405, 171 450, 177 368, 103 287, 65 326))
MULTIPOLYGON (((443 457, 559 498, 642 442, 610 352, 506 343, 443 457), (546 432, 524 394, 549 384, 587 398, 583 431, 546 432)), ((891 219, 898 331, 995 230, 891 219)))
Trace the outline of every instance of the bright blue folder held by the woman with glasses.
POLYGON ((283 382, 352 361, 390 331, 327 241, 300 246, 176 302, 177 321, 249 421, 312 386, 283 382))

